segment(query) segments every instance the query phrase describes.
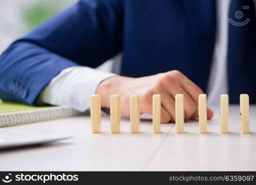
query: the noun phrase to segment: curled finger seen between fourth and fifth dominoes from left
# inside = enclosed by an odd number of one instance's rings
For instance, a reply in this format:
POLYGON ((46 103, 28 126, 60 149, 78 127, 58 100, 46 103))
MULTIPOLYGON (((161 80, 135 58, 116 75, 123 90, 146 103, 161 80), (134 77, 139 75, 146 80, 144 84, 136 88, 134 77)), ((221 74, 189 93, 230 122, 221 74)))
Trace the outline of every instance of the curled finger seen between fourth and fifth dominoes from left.
POLYGON ((162 93, 162 106, 170 115, 170 121, 175 121, 175 100, 167 92, 162 93))

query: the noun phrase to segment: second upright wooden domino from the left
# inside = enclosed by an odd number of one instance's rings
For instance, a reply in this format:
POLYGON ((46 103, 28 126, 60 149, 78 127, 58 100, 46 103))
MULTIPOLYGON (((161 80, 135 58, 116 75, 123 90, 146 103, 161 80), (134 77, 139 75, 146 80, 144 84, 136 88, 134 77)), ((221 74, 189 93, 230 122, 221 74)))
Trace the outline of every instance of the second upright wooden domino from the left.
POLYGON ((111 133, 120 133, 120 124, 121 124, 120 96, 115 94, 110 96, 111 133))

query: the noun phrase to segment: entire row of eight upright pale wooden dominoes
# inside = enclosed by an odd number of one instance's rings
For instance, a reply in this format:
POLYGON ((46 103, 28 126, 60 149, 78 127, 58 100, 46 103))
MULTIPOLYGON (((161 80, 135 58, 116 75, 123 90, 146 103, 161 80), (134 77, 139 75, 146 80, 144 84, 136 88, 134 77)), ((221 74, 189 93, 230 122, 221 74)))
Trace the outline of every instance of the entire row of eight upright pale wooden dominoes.
MULTIPOLYGON (((207 133, 207 96, 199 94, 199 132, 207 133)), ((220 133, 228 133, 228 95, 222 94, 220 97, 220 133)), ((130 96, 130 131, 139 133, 140 111, 139 95, 130 96)), ((111 133, 120 133, 121 111, 120 96, 112 95, 110 97, 110 130, 111 133)), ((240 95, 240 115, 241 115, 241 133, 249 133, 249 96, 240 95)), ((153 133, 160 133, 161 120, 161 95, 152 96, 152 125, 153 133)), ((184 133, 184 95, 175 96, 175 126, 176 133, 184 133)), ((93 133, 101 132, 101 96, 94 94, 91 96, 91 130, 93 133)))

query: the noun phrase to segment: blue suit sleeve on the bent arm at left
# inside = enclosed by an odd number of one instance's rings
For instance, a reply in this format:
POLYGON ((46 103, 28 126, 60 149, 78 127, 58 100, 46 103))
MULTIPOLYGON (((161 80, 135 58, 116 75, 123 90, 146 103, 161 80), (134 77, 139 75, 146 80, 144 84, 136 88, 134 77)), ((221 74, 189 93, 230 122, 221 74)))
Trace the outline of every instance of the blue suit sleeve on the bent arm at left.
POLYGON ((68 67, 97 67, 122 51, 121 0, 78 1, 12 43, 0 56, 0 98, 35 104, 68 67))

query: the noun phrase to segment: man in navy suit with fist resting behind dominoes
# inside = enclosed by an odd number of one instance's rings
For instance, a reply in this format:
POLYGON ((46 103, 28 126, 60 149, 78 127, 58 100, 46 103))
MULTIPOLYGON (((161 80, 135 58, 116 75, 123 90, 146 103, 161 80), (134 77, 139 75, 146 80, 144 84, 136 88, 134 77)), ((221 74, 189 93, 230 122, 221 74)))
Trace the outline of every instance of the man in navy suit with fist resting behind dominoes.
POLYGON ((254 33, 253 0, 78 1, 1 55, 0 97, 86 110, 91 94, 101 94, 102 107, 120 94, 129 115, 130 94, 141 96, 141 113, 152 113, 152 94, 161 94, 167 123, 182 93, 193 119, 203 92, 211 103, 220 94, 238 103, 241 93, 256 102, 254 33), (93 69, 120 52, 120 75, 93 69))

